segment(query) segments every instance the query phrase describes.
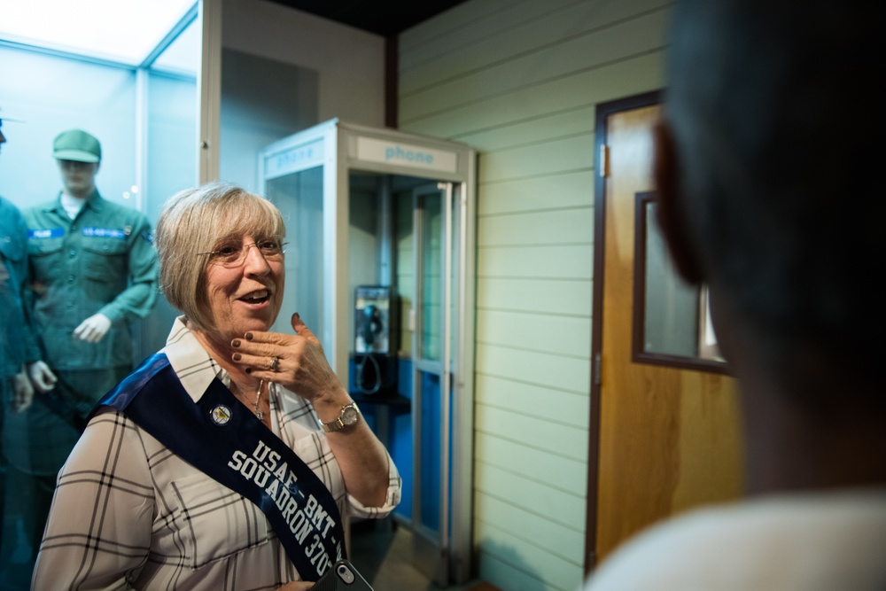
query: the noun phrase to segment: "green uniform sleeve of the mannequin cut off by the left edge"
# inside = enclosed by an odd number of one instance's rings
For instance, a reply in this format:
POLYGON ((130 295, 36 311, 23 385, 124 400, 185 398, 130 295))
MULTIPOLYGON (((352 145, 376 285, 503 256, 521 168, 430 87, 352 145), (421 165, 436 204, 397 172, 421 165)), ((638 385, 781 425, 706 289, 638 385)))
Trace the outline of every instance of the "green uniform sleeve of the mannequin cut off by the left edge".
POLYGON ((27 226, 18 207, 0 197, 0 380, 19 373, 23 362, 40 359, 24 314, 26 240, 27 226))

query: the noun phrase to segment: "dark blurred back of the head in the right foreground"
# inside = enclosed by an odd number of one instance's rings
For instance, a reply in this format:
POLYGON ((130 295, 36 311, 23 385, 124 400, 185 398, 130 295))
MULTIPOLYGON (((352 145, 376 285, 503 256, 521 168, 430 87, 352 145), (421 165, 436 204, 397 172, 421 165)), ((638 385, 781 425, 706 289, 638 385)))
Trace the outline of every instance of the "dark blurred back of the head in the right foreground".
POLYGON ((886 354, 884 6, 685 0, 674 12, 659 164, 674 172, 679 267, 729 300, 786 393, 822 409, 839 376, 870 391, 886 354))

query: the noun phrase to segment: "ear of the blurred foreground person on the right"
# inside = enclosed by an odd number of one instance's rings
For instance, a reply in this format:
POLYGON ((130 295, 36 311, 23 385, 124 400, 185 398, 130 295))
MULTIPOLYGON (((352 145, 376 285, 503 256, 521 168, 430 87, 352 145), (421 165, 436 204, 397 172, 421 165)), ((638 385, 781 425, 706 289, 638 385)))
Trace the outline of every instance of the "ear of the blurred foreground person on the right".
POLYGON ((664 121, 653 129, 655 175, 658 207, 657 220, 668 246, 674 265, 684 279, 691 284, 704 283, 699 258, 688 233, 688 216, 685 196, 680 191, 680 168, 677 166, 676 146, 671 128, 664 121))

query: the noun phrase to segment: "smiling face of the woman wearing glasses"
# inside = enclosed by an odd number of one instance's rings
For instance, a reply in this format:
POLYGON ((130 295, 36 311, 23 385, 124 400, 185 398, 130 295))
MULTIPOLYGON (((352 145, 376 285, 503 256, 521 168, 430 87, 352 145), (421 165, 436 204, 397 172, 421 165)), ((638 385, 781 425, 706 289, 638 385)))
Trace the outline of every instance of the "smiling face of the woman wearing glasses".
POLYGON ((206 295, 216 330, 225 341, 243 337, 249 330, 268 330, 280 313, 286 274, 283 255, 266 258, 260 247, 262 240, 244 235, 225 243, 223 248, 229 252, 248 245, 238 264, 222 264, 218 257, 210 258, 206 295))

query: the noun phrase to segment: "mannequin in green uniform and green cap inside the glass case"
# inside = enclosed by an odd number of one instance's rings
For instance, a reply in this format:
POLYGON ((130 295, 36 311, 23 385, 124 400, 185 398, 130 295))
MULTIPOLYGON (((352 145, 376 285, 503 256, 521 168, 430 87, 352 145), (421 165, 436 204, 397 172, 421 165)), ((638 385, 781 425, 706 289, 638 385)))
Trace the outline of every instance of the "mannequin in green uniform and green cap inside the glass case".
POLYGON ((23 214, 35 331, 58 382, 6 429, 7 445, 17 449, 8 458, 10 478, 18 482, 14 502, 23 505, 31 564, 58 469, 97 399, 131 371, 131 323, 151 311, 158 281, 147 218, 96 189, 97 138, 67 130, 55 138, 52 155, 63 189, 23 214))

